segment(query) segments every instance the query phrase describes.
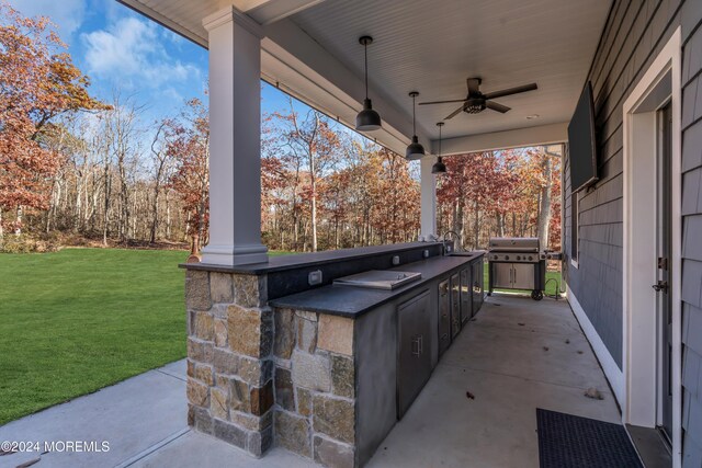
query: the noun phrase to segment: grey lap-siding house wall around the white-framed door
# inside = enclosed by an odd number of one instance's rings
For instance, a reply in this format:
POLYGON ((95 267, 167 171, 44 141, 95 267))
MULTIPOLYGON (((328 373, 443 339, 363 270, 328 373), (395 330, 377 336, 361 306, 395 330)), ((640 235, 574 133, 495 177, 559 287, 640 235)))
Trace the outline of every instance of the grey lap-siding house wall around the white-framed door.
POLYGON ((578 262, 570 262, 569 161, 564 164, 564 244, 571 293, 622 368, 622 104, 679 26, 682 32, 683 466, 702 467, 702 1, 615 0, 588 79, 600 181, 581 192, 578 262))

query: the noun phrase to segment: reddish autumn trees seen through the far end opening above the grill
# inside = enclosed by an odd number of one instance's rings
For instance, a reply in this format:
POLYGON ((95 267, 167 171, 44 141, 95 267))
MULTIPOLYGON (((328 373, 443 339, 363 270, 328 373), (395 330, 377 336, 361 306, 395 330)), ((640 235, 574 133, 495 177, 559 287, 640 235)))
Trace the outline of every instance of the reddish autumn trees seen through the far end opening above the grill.
POLYGON ((561 145, 444 158, 438 183, 438 230, 454 231, 465 249, 490 237, 537 237, 561 249, 561 145))

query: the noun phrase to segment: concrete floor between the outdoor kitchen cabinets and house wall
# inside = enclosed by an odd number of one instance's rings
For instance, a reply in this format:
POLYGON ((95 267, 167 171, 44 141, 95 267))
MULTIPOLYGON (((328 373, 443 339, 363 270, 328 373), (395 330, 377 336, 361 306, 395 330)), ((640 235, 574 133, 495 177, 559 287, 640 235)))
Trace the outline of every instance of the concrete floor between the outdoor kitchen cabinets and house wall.
POLYGON ((566 300, 494 295, 367 466, 539 467, 536 408, 621 421, 566 300))

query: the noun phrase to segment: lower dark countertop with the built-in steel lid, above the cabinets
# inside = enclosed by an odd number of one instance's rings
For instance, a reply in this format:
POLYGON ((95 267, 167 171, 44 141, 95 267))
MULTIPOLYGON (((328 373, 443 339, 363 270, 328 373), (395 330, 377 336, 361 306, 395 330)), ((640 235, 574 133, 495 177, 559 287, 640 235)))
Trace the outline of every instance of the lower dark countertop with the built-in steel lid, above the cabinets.
POLYGON ((393 290, 328 285, 273 299, 269 301, 269 305, 273 307, 329 313, 332 316, 353 319, 411 289, 420 288, 430 281, 435 279, 438 276, 466 265, 484 254, 485 252, 483 251, 476 251, 471 254, 462 252, 458 255, 432 256, 420 262, 407 263, 394 269, 388 269, 403 272, 421 273, 421 279, 393 290))

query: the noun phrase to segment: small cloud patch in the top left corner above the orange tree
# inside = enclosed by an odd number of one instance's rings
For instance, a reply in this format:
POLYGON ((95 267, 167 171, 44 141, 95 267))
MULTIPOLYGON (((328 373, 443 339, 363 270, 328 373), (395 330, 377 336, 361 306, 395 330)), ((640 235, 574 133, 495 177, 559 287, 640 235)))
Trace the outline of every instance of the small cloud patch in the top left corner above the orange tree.
POLYGON ((25 16, 48 16, 65 41, 78 31, 86 13, 86 0, 10 0, 10 4, 25 16))

